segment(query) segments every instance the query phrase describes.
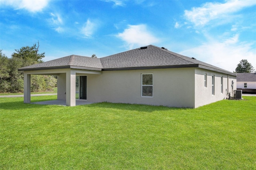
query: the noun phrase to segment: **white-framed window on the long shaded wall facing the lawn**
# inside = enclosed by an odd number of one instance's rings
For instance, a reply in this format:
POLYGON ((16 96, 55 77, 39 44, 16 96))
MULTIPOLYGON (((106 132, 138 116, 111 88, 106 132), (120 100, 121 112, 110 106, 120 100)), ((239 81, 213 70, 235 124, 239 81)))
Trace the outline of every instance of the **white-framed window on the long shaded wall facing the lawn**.
POLYGON ((142 97, 153 97, 153 74, 142 74, 142 97))

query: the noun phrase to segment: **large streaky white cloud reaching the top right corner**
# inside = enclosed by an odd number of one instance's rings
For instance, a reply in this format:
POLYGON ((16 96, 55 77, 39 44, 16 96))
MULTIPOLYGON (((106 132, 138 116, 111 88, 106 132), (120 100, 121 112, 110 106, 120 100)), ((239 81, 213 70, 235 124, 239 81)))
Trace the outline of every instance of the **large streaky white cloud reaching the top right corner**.
POLYGON ((249 6, 256 5, 255 0, 228 0, 226 3, 207 2, 201 7, 185 10, 185 17, 195 26, 204 26, 212 20, 230 20, 230 14, 249 6))

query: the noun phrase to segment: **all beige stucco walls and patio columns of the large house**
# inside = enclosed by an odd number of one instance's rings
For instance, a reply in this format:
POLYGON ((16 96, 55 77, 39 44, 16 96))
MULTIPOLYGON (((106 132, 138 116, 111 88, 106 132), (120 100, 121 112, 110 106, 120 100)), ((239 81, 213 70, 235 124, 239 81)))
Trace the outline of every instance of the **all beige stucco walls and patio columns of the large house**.
POLYGON ((58 76, 58 99, 66 105, 76 105, 75 77, 87 76, 87 101, 163 105, 196 108, 234 96, 236 76, 199 68, 144 69, 125 71, 88 71, 81 69, 53 69, 24 71, 24 102, 30 103, 30 74, 58 76), (142 74, 153 74, 153 97, 142 97, 142 74), (204 74, 207 87, 204 87, 204 74), (215 94, 212 95, 212 75, 215 76, 215 94), (223 93, 221 93, 223 76, 223 93), (233 87, 232 87, 233 81, 233 87), (66 94, 65 94, 66 93, 66 94), (26 99, 25 99, 26 98, 26 99))

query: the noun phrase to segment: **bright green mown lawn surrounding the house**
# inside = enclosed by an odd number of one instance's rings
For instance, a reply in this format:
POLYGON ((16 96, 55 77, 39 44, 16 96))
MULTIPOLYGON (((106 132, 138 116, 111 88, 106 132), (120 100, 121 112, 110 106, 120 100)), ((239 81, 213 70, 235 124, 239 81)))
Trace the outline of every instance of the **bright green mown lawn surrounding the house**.
POLYGON ((0 98, 0 169, 256 169, 256 97, 243 97, 197 109, 0 98))

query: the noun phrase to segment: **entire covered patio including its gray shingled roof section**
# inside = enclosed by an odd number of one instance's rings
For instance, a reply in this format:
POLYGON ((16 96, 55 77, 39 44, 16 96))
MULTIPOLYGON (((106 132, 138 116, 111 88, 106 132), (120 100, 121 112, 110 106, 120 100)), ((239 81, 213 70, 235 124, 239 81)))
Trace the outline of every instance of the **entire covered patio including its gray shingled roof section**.
POLYGON ((57 105, 76 106, 89 104, 87 102, 87 75, 102 74, 102 64, 98 58, 70 55, 22 67, 18 71, 24 71, 24 103, 31 102, 30 75, 56 75, 58 87, 57 101, 45 101, 39 104, 54 103, 57 105))

